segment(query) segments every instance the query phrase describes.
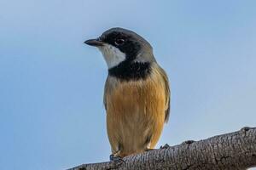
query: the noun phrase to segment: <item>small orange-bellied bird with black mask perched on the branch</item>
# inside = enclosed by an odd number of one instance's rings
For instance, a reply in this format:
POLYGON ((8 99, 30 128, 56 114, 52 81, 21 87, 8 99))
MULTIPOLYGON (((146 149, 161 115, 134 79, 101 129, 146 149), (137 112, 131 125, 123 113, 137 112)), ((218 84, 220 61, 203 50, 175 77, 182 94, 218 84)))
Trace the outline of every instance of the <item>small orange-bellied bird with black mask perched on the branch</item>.
POLYGON ((120 27, 84 43, 98 48, 108 65, 103 103, 110 160, 154 150, 169 119, 171 91, 152 46, 120 27))

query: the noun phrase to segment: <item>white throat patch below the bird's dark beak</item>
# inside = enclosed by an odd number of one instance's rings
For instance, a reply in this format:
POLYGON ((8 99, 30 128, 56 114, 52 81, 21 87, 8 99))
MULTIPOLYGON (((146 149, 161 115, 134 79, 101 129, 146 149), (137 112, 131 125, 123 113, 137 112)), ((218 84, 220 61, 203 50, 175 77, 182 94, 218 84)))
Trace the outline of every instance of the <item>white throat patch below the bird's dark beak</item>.
POLYGON ((109 44, 104 44, 98 47, 102 52, 104 59, 108 65, 108 69, 119 65, 120 62, 125 60, 125 54, 122 53, 119 48, 113 47, 109 44))

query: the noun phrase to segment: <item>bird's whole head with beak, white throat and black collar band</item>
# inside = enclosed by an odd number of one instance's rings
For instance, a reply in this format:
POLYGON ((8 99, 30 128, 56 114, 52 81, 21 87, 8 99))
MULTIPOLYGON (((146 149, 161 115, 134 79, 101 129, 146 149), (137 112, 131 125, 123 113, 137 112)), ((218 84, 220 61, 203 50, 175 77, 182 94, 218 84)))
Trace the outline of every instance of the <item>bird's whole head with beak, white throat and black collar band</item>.
POLYGON ((96 46, 108 64, 110 75, 117 77, 143 77, 149 71, 154 55, 151 45, 134 31, 112 28, 101 37, 85 41, 96 46))

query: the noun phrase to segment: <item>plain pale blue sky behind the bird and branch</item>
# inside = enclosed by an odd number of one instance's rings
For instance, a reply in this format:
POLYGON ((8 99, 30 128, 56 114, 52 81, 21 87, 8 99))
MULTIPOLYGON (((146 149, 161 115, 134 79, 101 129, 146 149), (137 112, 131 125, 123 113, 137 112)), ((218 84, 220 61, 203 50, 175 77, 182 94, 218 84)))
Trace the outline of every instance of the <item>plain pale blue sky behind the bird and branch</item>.
POLYGON ((1 169, 108 161, 102 54, 112 27, 154 47, 171 82, 162 144, 256 126, 256 2, 0 1, 1 169))

